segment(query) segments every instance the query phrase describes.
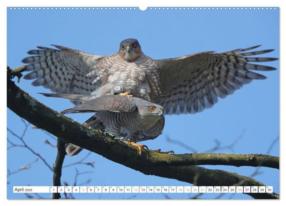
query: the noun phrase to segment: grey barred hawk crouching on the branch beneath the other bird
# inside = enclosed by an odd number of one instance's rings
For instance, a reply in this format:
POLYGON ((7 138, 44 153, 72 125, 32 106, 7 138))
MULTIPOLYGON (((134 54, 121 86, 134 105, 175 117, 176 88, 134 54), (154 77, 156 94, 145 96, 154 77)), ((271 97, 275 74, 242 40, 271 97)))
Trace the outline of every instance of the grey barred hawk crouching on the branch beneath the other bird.
MULTIPOLYGON (((56 97, 56 95, 44 95, 56 97)), ((96 116, 94 115, 84 123, 86 126, 92 125, 95 129, 104 128, 105 132, 137 146, 139 155, 141 155, 141 148, 146 145, 136 144, 136 142, 155 139, 162 134, 164 128, 163 110, 162 106, 144 99, 105 95, 66 109, 61 113, 96 112, 96 116)), ((66 144, 68 155, 75 156, 81 150, 82 148, 74 144, 66 144)))

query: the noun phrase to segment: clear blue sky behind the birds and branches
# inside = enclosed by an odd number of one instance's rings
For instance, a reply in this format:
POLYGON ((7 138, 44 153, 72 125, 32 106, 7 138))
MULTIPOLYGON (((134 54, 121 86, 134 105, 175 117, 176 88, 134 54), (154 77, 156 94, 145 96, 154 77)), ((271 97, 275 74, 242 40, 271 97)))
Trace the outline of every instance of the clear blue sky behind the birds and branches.
MULTIPOLYGON (((125 7, 124 7, 125 8, 125 7)), ((249 7, 248 7, 249 8, 249 7)), ((27 51, 36 46, 57 44, 87 53, 108 55, 118 51, 123 39, 138 39, 142 51, 153 59, 180 57, 201 51, 224 52, 238 48, 262 45, 257 50, 275 49, 263 57, 279 57, 279 9, 259 10, 173 10, 158 8, 135 10, 10 10, 7 8, 7 65, 11 68, 22 65, 27 51)), ((52 47, 52 46, 51 46, 52 47)), ((263 63, 279 68, 279 61, 263 63)), ((217 152, 236 154, 265 154, 271 142, 279 135, 279 70, 259 72, 266 80, 254 80, 233 95, 219 99, 211 109, 198 114, 166 116, 163 134, 154 140, 143 142, 149 149, 161 148, 163 151, 174 150, 176 154, 191 153, 179 145, 167 142, 167 137, 184 142, 205 152, 213 148, 215 139, 221 145, 231 144, 244 130, 243 137, 235 147, 217 152)), ((43 87, 33 87, 32 81, 21 79, 17 84, 24 91, 37 98, 54 110, 62 111, 72 107, 64 99, 43 97, 38 92, 50 92, 43 87)), ((84 122, 92 114, 71 114, 69 117, 84 122)), ((7 109, 7 127, 17 134, 22 134, 24 124, 21 119, 7 109)), ((17 140, 7 132, 7 137, 15 143, 17 140)), ((52 166, 56 150, 44 144, 48 139, 56 142, 44 132, 29 129, 25 140, 39 152, 52 166)), ((9 144, 7 144, 9 146, 9 144)), ((87 150, 75 158, 66 157, 65 163, 80 160, 87 150)), ((270 155, 279 156, 279 143, 272 148, 270 155)), ((7 151, 7 168, 11 171, 27 165, 36 157, 25 148, 12 148, 7 151)), ((131 170, 97 154, 91 154, 85 162, 95 161, 95 168, 77 165, 80 172, 92 173, 78 177, 78 183, 91 179, 85 185, 96 186, 189 186, 177 180, 147 176, 131 170), (131 181, 136 180, 136 181, 131 181), (138 185, 142 182, 142 185, 138 185)), ((232 166, 204 166, 211 169, 237 172, 251 175, 256 168, 232 166)), ((273 186, 279 193, 279 171, 261 168, 262 174, 254 178, 265 185, 273 186)), ((52 186, 52 172, 42 161, 33 164, 29 170, 23 170, 7 178, 8 199, 26 198, 23 194, 13 194, 13 186, 52 186)), ((75 168, 63 169, 62 182, 73 184, 75 168)), ((49 197, 49 194, 42 194, 49 197)), ((121 199, 130 194, 75 194, 77 199, 121 199)), ((168 194, 171 198, 189 198, 189 194, 168 194)), ((229 194, 222 198, 229 198, 229 194)), ((214 198, 216 195, 205 194, 202 198, 214 198)), ((137 194, 135 199, 164 199, 163 194, 137 194)), ((248 195, 236 194, 233 198, 248 199, 248 195)))

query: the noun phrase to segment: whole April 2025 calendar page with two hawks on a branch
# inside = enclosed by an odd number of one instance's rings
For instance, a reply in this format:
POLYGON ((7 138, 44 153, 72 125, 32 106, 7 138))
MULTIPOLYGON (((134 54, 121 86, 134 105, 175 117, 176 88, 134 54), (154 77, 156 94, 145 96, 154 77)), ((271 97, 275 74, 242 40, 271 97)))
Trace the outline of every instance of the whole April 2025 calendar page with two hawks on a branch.
POLYGON ((7 199, 279 199, 279 6, 95 4, 6 8, 7 199))

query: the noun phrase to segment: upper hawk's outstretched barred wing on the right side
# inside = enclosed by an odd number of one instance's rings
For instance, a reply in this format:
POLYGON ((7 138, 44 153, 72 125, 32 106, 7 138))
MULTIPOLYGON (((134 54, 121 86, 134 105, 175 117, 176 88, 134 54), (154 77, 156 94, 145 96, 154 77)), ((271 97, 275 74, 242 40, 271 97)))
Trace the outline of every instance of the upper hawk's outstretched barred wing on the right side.
POLYGON ((236 49, 215 54, 213 51, 186 55, 173 59, 156 60, 162 96, 153 96, 152 102, 164 107, 165 114, 197 113, 211 108, 218 97, 225 98, 252 79, 266 79, 249 70, 271 71, 249 62, 268 62, 276 58, 246 57, 268 53, 271 50, 244 52, 255 49, 236 49), (242 53, 241 53, 242 52, 242 53))

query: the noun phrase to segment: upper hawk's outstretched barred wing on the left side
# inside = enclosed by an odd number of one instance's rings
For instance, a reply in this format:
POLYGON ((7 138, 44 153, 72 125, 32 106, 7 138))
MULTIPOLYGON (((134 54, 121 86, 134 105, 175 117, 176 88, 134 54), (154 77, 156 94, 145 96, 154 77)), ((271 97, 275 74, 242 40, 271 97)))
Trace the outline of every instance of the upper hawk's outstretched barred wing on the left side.
POLYGON ((36 79, 32 85, 44 86, 52 92, 65 94, 90 94, 101 82, 92 84, 94 77, 87 77, 91 67, 103 56, 87 54, 83 51, 63 46, 57 49, 38 46, 38 49, 28 51, 35 55, 22 60, 26 71, 32 71, 24 79, 36 79))

